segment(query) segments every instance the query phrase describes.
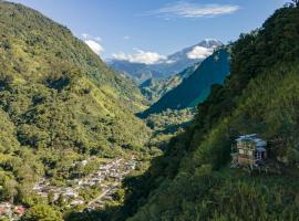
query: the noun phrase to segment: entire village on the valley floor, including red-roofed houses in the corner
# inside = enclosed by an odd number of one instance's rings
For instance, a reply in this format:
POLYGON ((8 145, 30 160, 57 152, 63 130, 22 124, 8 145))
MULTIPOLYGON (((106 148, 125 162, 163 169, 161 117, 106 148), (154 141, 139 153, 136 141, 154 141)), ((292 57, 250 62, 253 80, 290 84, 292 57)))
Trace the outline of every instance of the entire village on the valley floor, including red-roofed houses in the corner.
MULTIPOLYGON (((87 165, 90 159, 82 160, 75 164, 83 166, 87 165)), ((74 165, 75 165, 74 164, 74 165)), ((107 201, 113 200, 112 196, 120 188, 122 180, 127 173, 134 170, 136 167, 136 160, 132 157, 130 160, 124 158, 116 158, 101 164, 99 169, 81 179, 69 180, 72 185, 70 187, 52 186, 47 178, 41 178, 33 187, 33 190, 42 198, 49 199, 52 196, 53 201, 63 198, 66 202, 66 208, 82 207, 87 210, 103 208, 107 201), (100 193, 91 199, 84 200, 80 196, 80 191, 100 187, 100 193)), ((0 203, 0 218, 8 218, 9 220, 19 220, 25 212, 25 208, 22 206, 14 206, 10 202, 0 203)))

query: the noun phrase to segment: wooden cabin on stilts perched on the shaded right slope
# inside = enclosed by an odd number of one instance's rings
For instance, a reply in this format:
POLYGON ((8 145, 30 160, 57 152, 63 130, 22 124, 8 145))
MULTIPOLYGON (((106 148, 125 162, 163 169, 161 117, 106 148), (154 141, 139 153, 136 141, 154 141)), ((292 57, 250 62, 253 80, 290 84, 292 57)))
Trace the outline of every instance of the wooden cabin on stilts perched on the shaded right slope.
POLYGON ((233 147, 233 166, 259 166, 267 159, 267 141, 258 135, 238 137, 233 147))

